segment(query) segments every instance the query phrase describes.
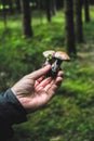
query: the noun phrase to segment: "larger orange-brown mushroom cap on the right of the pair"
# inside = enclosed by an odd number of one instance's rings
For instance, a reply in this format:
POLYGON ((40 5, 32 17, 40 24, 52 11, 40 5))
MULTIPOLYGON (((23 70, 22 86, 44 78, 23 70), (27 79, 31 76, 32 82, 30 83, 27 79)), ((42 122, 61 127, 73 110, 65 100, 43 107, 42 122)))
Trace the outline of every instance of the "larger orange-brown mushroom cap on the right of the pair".
POLYGON ((57 51, 55 53, 54 57, 62 60, 62 61, 64 61, 64 60, 69 61, 70 60, 69 55, 66 52, 63 52, 63 51, 57 51))

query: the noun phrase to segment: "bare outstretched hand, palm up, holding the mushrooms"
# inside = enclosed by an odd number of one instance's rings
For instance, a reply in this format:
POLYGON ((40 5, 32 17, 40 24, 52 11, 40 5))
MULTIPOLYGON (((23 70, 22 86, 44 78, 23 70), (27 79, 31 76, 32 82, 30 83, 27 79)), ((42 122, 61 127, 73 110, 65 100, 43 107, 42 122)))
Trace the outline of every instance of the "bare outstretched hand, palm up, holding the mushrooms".
POLYGON ((11 90, 27 111, 35 111, 46 104, 55 94, 63 80, 63 72, 58 72, 57 77, 44 78, 51 69, 51 65, 44 66, 33 73, 23 77, 11 90))

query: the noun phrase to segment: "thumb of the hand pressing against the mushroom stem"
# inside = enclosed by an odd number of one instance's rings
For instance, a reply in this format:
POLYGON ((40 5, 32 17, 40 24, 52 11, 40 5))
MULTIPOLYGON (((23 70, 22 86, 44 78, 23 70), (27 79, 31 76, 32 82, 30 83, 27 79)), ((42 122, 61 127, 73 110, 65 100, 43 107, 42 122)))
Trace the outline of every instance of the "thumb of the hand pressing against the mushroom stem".
POLYGON ((36 79, 40 78, 41 76, 45 75, 50 69, 51 69, 51 65, 46 65, 46 66, 31 73, 29 77, 31 79, 36 80, 36 79))

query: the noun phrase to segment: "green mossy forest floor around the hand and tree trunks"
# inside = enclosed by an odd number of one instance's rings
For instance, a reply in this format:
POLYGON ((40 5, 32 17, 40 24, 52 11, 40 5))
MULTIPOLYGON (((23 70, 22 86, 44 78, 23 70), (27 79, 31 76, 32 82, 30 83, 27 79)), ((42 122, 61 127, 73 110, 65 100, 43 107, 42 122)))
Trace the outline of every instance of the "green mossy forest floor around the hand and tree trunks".
MULTIPOLYGON (((29 115, 27 123, 14 126, 15 136, 12 141, 94 140, 93 13, 94 10, 91 8, 91 22, 83 23, 84 43, 77 46, 77 60, 71 60, 62 66, 65 78, 56 97, 44 110, 29 115)), ((62 11, 52 18, 50 24, 46 23, 44 15, 42 21, 33 17, 35 36, 28 40, 22 37, 21 15, 16 18, 9 17, 6 31, 0 22, 0 64, 2 66, 0 70, 8 74, 6 80, 11 78, 9 85, 24 74, 40 67, 43 63, 42 52, 45 49, 66 51, 63 17, 62 11)))

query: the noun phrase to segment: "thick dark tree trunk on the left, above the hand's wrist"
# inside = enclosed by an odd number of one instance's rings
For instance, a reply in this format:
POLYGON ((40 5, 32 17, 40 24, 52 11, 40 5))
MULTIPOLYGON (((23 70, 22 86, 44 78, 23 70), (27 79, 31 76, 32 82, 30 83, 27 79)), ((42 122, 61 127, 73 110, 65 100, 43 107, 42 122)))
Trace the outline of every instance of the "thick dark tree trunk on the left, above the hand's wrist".
POLYGON ((25 37, 32 37, 29 0, 22 0, 23 33, 25 37))

